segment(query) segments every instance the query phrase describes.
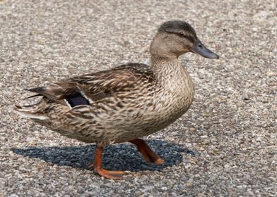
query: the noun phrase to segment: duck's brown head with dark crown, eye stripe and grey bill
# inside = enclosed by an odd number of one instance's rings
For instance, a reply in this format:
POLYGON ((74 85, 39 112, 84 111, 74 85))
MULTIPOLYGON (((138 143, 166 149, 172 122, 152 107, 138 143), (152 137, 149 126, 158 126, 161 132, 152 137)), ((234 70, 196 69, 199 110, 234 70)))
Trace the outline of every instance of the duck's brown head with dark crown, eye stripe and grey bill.
POLYGON ((163 23, 151 44, 151 55, 156 58, 178 58, 189 51, 205 58, 219 58, 201 43, 194 28, 181 20, 163 23))

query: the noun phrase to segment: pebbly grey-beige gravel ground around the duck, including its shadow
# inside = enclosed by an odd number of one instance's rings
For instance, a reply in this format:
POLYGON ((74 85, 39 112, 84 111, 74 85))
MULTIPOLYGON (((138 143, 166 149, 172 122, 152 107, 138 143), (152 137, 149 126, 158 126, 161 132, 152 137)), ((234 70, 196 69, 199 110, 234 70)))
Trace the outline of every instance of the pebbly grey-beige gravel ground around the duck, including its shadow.
POLYGON ((0 1, 0 196, 276 196, 277 6, 266 1, 0 1), (186 20, 218 55, 181 60, 196 84, 189 111, 148 136, 165 159, 148 165, 131 144, 105 149, 12 113, 24 88, 64 77, 148 63, 166 20, 186 20))

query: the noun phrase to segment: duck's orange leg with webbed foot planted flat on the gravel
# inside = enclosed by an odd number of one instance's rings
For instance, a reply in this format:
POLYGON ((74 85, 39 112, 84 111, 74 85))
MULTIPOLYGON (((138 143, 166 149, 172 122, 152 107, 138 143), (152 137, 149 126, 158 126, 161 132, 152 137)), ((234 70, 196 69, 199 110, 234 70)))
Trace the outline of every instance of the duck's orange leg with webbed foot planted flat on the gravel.
POLYGON ((102 169, 102 146, 96 146, 94 163, 90 165, 93 167, 95 173, 107 179, 122 179, 123 171, 109 171, 102 169))

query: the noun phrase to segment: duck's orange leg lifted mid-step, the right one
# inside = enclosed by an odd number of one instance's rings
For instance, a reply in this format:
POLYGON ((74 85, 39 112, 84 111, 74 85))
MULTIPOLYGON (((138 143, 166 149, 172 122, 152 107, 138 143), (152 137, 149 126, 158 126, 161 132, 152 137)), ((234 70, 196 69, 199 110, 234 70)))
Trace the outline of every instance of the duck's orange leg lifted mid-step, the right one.
POLYGON ((148 162, 148 163, 155 163, 157 165, 163 164, 164 161, 163 159, 159 158, 159 156, 154 153, 151 148, 146 144, 145 141, 142 139, 133 139, 130 140, 132 144, 136 145, 136 148, 138 148, 138 151, 141 152, 143 155, 143 158, 148 162))

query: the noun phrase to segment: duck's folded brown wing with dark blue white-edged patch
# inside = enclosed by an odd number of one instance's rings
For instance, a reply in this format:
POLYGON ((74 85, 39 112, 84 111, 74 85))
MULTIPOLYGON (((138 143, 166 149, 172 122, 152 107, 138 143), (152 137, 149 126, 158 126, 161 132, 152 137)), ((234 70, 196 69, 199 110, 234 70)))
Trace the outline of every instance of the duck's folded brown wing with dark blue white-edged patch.
POLYGON ((73 107, 91 104, 122 91, 131 92, 139 88, 140 84, 151 84, 154 81, 155 77, 148 65, 129 63, 28 90, 35 92, 35 96, 45 96, 51 101, 73 107))

